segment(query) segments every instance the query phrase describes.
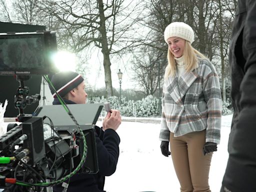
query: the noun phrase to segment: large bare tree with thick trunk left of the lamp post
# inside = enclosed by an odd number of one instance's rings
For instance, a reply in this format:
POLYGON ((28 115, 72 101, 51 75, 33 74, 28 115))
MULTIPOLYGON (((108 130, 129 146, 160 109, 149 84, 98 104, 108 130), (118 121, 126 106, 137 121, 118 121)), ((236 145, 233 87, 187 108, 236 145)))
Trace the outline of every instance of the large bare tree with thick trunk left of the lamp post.
POLYGON ((41 10, 61 23, 57 28, 60 46, 74 52, 91 46, 101 50, 107 96, 113 95, 110 54, 120 53, 133 44, 131 5, 124 0, 41 0, 39 3, 41 10))

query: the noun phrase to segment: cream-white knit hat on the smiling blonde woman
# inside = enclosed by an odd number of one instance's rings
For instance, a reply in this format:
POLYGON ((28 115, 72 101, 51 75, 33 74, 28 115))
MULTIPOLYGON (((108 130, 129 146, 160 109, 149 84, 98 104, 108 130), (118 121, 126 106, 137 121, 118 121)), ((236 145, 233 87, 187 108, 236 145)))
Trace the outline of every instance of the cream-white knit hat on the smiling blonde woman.
POLYGON ((176 36, 188 40, 190 43, 194 41, 193 29, 184 22, 172 22, 166 26, 164 30, 164 40, 167 42, 169 37, 176 36))

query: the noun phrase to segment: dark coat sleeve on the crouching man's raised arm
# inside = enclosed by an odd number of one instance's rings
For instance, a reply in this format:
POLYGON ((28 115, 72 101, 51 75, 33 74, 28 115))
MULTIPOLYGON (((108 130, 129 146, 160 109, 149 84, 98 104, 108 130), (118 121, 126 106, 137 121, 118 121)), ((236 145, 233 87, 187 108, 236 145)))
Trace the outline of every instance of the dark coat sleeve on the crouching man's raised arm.
POLYGON ((109 176, 114 173, 119 156, 120 138, 115 130, 96 127, 96 150, 99 174, 109 176))

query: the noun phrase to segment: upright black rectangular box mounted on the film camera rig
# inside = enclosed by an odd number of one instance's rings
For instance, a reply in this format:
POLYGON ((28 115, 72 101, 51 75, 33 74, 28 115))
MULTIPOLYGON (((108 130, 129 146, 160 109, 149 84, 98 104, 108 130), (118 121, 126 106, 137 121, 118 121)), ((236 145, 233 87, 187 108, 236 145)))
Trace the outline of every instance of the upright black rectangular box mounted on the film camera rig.
POLYGON ((27 135, 23 142, 23 148, 29 150, 28 164, 34 165, 45 157, 45 145, 43 137, 43 124, 41 117, 31 117, 22 124, 22 133, 27 135))

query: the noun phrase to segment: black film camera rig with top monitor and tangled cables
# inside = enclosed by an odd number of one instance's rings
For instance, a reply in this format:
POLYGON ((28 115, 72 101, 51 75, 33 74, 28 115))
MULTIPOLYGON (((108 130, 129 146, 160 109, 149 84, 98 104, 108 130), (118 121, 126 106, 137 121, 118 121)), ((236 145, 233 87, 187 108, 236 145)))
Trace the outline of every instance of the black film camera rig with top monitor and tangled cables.
MULTIPOLYGON (((39 94, 28 95, 29 89, 24 86, 24 81, 31 74, 37 74, 43 75, 51 85, 47 74, 56 71, 51 60, 56 49, 54 31, 0 33, 0 75, 16 75, 19 81, 14 106, 19 111, 17 121, 21 122, 19 125, 8 124, 6 134, 0 137, 1 191, 52 191, 53 185, 75 173, 98 171, 93 127, 102 105, 90 106, 96 112, 91 122, 83 127, 65 105, 65 114, 72 120, 73 127, 65 124, 66 128, 62 126, 60 129, 54 122, 61 115, 51 112, 49 117, 47 106, 39 108, 35 113, 37 116, 23 111, 27 104, 40 99, 39 94)), ((53 107, 50 111, 54 106, 50 106, 53 107)))

